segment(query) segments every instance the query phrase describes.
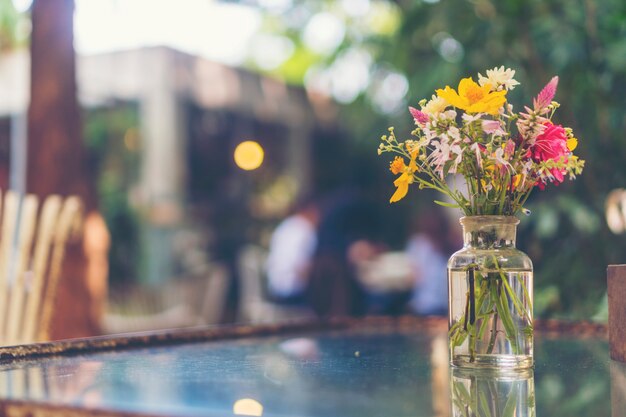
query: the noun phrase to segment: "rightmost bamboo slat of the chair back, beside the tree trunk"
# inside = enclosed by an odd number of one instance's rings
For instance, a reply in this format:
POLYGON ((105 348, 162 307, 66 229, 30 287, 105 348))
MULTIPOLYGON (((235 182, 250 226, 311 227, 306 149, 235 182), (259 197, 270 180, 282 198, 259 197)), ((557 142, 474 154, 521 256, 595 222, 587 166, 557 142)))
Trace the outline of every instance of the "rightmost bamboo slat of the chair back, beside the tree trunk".
POLYGON ((41 327, 39 329, 39 341, 49 339, 50 322, 54 309, 54 301, 61 273, 63 257, 65 255, 65 244, 70 234, 78 232, 81 224, 82 204, 78 197, 68 197, 61 209, 59 220, 54 234, 54 246, 52 248, 52 259, 50 261, 50 274, 46 291, 43 297, 41 312, 41 327))

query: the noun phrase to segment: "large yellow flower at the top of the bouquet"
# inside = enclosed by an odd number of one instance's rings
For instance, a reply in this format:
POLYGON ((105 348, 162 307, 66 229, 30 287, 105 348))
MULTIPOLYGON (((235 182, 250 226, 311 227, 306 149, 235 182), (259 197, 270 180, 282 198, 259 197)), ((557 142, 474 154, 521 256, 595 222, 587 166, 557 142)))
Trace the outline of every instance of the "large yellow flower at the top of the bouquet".
POLYGON ((437 95, 448 103, 467 113, 498 114, 500 107, 506 103, 506 90, 491 91, 491 84, 480 86, 471 77, 463 78, 459 83, 457 93, 450 86, 438 89, 437 95))

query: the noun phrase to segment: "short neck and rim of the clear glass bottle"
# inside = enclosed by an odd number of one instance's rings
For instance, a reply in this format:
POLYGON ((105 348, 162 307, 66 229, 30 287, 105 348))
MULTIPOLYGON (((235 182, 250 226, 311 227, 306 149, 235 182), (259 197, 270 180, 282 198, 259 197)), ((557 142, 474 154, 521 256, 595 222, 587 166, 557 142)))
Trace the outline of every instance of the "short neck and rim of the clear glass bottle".
POLYGON ((519 219, 513 216, 466 216, 463 227, 463 247, 466 249, 502 249, 515 247, 519 219))

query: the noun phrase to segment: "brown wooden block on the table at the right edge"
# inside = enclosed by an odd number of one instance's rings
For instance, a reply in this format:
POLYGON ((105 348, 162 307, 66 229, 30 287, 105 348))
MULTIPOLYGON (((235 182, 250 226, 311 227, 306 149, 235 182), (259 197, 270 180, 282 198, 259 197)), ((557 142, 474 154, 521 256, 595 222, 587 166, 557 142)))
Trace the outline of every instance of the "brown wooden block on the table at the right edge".
POLYGON ((626 362, 626 265, 609 265, 607 287, 611 359, 626 362))

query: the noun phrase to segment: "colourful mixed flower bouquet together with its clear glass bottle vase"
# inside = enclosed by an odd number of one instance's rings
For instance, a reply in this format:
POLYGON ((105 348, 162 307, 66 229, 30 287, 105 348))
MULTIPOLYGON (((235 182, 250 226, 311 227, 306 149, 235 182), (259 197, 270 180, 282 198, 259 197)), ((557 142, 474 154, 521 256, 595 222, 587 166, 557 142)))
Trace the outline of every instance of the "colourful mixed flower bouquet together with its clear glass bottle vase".
POLYGON ((558 77, 516 113, 507 94, 519 83, 504 67, 464 78, 410 107, 416 128, 399 141, 394 129, 378 153, 396 154, 390 202, 411 184, 448 197, 460 209, 464 248, 448 262, 451 362, 466 367, 532 366, 532 262, 515 249, 515 227, 535 188, 580 174, 584 161, 571 129, 552 121, 558 77))

